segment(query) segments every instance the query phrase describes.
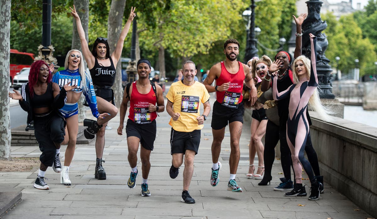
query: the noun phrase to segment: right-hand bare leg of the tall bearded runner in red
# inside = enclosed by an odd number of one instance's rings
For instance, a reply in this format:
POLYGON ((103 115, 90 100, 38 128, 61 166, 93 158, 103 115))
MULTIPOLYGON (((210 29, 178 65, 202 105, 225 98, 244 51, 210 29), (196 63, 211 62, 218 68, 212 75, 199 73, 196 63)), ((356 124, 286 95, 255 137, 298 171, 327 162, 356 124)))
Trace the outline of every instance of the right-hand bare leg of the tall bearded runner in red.
POLYGON ((240 157, 239 152, 239 139, 241 138, 242 133, 242 123, 239 121, 234 121, 229 123, 230 131, 230 157, 229 157, 229 166, 230 174, 236 174, 238 168, 238 162, 240 157))

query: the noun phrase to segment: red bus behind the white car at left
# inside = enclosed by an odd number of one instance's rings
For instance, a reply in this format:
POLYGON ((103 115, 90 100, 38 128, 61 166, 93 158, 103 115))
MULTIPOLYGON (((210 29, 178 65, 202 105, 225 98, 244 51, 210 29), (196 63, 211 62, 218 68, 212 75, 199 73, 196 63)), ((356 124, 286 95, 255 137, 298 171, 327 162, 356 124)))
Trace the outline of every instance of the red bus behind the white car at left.
POLYGON ((20 72, 21 69, 25 67, 30 67, 34 62, 34 54, 28 52, 18 52, 17 49, 11 49, 11 54, 9 57, 9 71, 10 71, 10 82, 13 84, 14 76, 20 72))

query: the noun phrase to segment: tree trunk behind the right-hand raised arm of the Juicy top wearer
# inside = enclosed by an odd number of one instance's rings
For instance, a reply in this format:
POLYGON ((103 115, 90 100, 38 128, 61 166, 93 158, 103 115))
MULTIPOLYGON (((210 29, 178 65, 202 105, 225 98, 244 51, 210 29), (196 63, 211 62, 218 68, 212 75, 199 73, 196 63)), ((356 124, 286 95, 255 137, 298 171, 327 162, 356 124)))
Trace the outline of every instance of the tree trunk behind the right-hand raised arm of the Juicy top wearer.
MULTIPOLYGON (((123 30, 123 14, 126 0, 112 0, 109 10, 109 18, 107 20, 107 38, 110 46, 110 54, 114 52, 116 43, 119 40, 120 33, 123 30)), ((128 16, 127 16, 128 18, 128 16)), ((123 97, 122 87, 122 61, 121 58, 116 64, 115 83, 113 85, 115 105, 120 106, 123 97)))

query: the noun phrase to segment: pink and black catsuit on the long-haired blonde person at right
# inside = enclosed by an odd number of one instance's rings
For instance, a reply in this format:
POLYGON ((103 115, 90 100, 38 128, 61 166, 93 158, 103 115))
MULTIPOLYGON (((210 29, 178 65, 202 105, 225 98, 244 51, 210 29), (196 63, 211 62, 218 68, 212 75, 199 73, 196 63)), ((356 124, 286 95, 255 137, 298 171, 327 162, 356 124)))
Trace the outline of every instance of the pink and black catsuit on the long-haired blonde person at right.
POLYGON ((311 41, 311 69, 310 80, 300 81, 288 87, 287 90, 278 93, 277 77, 273 80, 274 100, 281 100, 289 97, 289 116, 287 120, 287 143, 291 150, 293 170, 296 183, 302 183, 302 167, 309 176, 310 182, 316 182, 310 162, 304 157, 305 145, 309 133, 307 118, 308 102, 314 90, 318 86, 316 71, 316 42, 317 38, 310 38, 311 41))

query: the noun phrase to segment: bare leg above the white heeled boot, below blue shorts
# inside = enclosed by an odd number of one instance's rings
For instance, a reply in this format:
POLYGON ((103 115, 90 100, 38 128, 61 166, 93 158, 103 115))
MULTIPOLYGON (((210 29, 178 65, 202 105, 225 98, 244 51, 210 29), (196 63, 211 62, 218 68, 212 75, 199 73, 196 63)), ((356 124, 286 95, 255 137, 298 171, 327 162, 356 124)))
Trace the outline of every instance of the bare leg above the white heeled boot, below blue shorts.
POLYGON ((66 138, 67 138, 68 145, 67 145, 66 153, 64 155, 64 166, 69 167, 69 165, 72 162, 75 149, 76 149, 76 141, 77 141, 77 133, 78 133, 78 115, 76 114, 69 118, 66 118, 66 122, 67 122, 67 126, 66 126, 66 135, 64 136, 64 141, 66 141, 66 138))

